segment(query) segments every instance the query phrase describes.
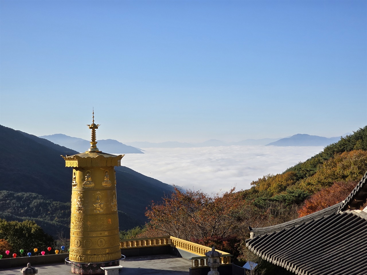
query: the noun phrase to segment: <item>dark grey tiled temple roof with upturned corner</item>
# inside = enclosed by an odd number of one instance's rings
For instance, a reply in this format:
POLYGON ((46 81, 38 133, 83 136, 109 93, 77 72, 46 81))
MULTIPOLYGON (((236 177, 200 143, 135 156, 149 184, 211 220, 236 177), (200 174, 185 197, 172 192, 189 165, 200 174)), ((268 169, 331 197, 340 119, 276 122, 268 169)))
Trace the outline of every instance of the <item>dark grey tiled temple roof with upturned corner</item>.
POLYGON ((298 275, 367 275, 367 212, 343 210, 365 203, 366 185, 365 174, 343 202, 287 223, 250 228, 246 246, 298 275))

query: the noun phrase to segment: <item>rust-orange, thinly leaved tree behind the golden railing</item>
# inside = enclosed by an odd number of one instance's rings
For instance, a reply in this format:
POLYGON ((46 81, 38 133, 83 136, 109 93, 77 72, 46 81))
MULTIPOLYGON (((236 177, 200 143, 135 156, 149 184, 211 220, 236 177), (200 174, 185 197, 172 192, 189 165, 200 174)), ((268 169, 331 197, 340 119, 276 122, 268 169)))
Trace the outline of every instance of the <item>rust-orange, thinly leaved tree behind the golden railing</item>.
POLYGON ((226 239, 241 235, 246 227, 242 222, 245 205, 241 192, 235 192, 235 188, 212 197, 202 191, 183 192, 175 188, 162 203, 152 202, 145 215, 162 234, 188 241, 214 236, 226 239))

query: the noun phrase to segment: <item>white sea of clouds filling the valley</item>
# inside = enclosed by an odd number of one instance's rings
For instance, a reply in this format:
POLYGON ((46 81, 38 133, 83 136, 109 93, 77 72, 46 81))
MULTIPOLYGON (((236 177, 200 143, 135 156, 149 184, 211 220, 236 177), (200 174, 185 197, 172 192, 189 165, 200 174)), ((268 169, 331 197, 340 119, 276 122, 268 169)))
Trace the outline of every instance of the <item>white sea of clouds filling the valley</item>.
POLYGON ((121 165, 167 184, 208 194, 250 188, 267 174, 281 173, 323 150, 322 146, 220 146, 143 148, 121 165))

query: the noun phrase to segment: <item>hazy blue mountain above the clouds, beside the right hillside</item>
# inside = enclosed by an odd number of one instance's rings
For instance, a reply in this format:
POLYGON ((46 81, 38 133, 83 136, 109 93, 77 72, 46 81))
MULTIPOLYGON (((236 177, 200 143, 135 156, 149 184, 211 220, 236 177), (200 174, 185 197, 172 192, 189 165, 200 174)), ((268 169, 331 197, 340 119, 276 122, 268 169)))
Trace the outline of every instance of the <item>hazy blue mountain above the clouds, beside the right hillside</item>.
POLYGON ((297 134, 284 139, 279 139, 275 142, 266 144, 266 146, 327 146, 331 143, 338 142, 340 137, 323 137, 311 136, 308 134, 297 134))

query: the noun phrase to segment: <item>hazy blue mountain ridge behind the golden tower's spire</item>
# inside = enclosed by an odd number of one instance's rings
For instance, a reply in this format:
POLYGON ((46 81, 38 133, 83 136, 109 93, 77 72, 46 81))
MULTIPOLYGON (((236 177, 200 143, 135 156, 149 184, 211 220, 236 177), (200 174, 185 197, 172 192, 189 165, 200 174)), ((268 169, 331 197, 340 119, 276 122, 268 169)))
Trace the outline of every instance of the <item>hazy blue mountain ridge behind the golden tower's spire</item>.
MULTIPOLYGON (((90 142, 79 137, 67 136, 64 134, 54 134, 47 136, 40 136, 40 138, 50 140, 55 144, 59 144, 66 148, 71 148, 78 153, 85 152, 90 148, 90 142)), ((109 152, 112 154, 144 154, 139 149, 128 146, 115 139, 101 139, 97 140, 97 147, 103 152, 109 152)))

